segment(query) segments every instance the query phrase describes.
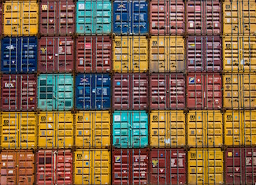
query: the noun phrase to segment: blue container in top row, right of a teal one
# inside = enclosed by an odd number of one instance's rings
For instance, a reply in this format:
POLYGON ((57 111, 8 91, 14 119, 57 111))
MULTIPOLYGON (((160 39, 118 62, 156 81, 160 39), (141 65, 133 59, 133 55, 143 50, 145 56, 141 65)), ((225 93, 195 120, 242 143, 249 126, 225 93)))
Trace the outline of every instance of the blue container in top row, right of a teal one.
POLYGON ((113 2, 113 32, 124 35, 145 35, 148 32, 145 0, 113 2))

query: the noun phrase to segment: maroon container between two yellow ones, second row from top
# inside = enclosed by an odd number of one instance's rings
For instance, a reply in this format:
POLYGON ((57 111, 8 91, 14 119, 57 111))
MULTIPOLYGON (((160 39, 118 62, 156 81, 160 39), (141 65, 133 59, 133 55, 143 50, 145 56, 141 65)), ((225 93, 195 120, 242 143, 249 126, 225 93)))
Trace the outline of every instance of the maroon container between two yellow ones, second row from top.
POLYGON ((187 38, 187 72, 221 72, 222 45, 220 36, 187 38))

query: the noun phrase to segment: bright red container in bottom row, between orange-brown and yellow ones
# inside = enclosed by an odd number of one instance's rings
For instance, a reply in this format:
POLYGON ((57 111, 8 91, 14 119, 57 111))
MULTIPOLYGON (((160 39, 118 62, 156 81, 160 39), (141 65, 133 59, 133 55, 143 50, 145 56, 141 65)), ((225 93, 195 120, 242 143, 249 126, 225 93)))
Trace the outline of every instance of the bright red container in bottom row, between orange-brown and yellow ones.
POLYGON ((36 184, 72 184, 71 150, 39 150, 36 154, 36 184))

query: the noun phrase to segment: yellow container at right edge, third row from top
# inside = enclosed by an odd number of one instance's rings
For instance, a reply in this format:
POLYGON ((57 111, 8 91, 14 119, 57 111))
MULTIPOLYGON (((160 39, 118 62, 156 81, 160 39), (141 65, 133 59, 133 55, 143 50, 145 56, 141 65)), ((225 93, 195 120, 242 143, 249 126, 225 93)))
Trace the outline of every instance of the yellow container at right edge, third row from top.
POLYGON ((255 109, 256 75, 254 73, 224 74, 223 99, 225 109, 255 109))

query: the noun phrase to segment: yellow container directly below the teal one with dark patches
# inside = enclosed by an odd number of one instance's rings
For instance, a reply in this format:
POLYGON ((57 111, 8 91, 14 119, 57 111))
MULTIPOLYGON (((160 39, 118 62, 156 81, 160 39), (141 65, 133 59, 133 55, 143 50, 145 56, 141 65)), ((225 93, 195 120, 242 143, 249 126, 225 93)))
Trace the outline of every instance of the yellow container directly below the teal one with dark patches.
POLYGON ((73 121, 71 112, 40 112, 39 148, 71 148, 73 121))

